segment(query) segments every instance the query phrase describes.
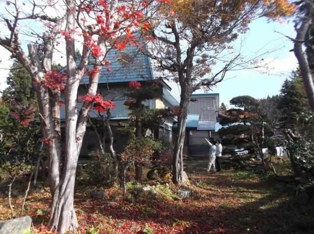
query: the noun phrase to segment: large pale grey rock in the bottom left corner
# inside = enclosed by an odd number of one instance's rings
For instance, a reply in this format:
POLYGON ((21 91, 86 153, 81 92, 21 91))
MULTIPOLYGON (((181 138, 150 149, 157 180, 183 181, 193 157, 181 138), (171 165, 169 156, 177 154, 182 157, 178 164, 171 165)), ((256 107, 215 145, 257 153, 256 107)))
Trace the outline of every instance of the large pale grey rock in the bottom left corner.
POLYGON ((23 230, 29 229, 31 218, 23 216, 15 219, 0 221, 0 234, 19 234, 23 230))

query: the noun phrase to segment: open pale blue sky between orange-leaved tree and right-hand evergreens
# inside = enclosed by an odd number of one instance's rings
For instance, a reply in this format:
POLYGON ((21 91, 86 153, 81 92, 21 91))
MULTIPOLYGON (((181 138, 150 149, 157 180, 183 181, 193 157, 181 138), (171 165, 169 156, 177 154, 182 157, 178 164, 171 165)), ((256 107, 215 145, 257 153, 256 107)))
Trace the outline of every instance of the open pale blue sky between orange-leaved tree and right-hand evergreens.
MULTIPOLYGON (((269 64, 270 74, 261 74, 258 71, 241 70, 231 71, 225 79, 212 89, 212 93, 219 93, 219 104, 230 105, 229 101, 242 95, 249 95, 256 99, 266 98, 280 94, 280 89, 286 78, 289 78, 292 70, 298 67, 293 52, 293 43, 284 35, 294 38, 293 23, 269 23, 266 20, 258 20, 252 23, 251 30, 245 36, 247 56, 254 52, 278 48, 263 59, 271 61, 269 64)), ((201 93, 197 91, 196 93, 201 93)))

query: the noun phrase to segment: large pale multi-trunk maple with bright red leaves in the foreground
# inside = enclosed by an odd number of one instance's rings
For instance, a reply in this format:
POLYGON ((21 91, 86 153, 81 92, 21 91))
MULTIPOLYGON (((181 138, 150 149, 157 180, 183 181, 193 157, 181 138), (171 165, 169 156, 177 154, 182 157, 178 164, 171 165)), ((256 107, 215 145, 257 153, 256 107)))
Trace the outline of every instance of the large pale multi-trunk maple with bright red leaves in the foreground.
POLYGON ((108 65, 105 57, 110 48, 125 49, 130 39, 134 39, 135 28, 145 30, 143 22, 150 6, 154 4, 152 9, 156 10, 163 2, 7 0, 5 3, 0 16, 0 45, 23 64, 37 94, 52 194, 49 225, 63 234, 78 227, 73 206, 74 182, 89 113, 95 102, 99 104, 98 111, 113 107, 97 95, 100 71, 108 65), (82 48, 78 62, 77 48, 82 48), (57 59, 65 58, 65 71, 52 71, 55 52, 60 54, 57 59), (89 59, 90 54, 93 59, 89 59), (89 64, 94 67, 86 74, 89 64), (89 77, 89 83, 78 110, 78 86, 84 75, 89 77), (65 97, 62 101, 61 92, 65 97), (60 138, 60 104, 65 107, 64 149, 60 138))

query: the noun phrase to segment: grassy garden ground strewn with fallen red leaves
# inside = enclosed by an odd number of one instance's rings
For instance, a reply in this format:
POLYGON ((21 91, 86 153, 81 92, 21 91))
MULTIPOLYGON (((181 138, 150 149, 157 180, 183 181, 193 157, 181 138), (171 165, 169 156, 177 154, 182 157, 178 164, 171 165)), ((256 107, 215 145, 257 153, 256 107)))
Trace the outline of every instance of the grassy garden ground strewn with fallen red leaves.
MULTIPOLYGON (((284 164, 279 167, 280 175, 291 175, 284 164)), ((117 205, 109 206, 101 205, 102 200, 89 199, 89 192, 99 187, 77 186, 74 205, 80 227, 76 233, 306 234, 314 230, 313 208, 276 188, 272 176, 235 169, 207 174, 207 160, 185 161, 184 168, 188 177, 197 182, 196 186, 190 185, 192 195, 184 199, 176 196, 180 186, 144 180, 157 195, 144 193, 134 203, 130 194, 124 198, 121 189, 114 186, 104 189, 108 195, 118 196, 117 205)), ((130 192, 132 183, 128 185, 130 192)), ((42 194, 31 193, 26 203, 25 213, 34 222, 33 233, 49 233, 45 226, 50 203, 47 184, 44 189, 42 194)), ((1 219, 10 217, 6 199, 5 195, 0 198, 1 219)), ((20 200, 13 202, 17 207, 20 200)))

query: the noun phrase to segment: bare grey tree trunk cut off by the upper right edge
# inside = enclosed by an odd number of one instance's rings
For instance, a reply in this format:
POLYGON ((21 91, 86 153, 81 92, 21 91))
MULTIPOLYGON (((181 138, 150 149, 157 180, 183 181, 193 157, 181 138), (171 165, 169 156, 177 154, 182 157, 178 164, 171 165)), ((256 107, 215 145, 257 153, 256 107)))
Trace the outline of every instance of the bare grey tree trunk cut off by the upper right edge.
POLYGON ((314 110, 313 78, 312 78, 309 62, 307 59, 307 55, 303 51, 303 44, 306 42, 307 33, 309 29, 312 27, 312 19, 314 16, 314 8, 312 4, 313 3, 306 3, 307 12, 305 16, 302 17, 296 23, 295 30, 297 34, 294 40, 293 52, 299 63, 301 77, 304 83, 304 88, 305 88, 305 92, 309 100, 310 107, 312 110, 314 110))

